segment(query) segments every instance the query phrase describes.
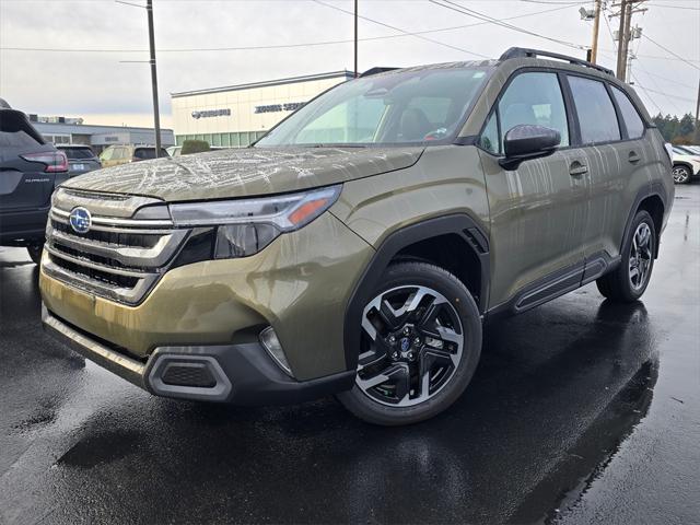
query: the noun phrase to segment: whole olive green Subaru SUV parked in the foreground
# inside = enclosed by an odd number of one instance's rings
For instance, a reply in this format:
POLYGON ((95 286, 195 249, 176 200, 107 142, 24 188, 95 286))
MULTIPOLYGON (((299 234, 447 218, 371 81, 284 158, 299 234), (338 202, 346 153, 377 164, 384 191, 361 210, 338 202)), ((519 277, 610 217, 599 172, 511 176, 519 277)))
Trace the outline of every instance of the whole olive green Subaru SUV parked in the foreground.
POLYGON ((63 184, 44 326, 154 395, 336 394, 412 423, 465 390, 486 320, 592 281, 639 299, 673 197, 660 132, 604 68, 513 48, 374 70, 252 148, 63 184))

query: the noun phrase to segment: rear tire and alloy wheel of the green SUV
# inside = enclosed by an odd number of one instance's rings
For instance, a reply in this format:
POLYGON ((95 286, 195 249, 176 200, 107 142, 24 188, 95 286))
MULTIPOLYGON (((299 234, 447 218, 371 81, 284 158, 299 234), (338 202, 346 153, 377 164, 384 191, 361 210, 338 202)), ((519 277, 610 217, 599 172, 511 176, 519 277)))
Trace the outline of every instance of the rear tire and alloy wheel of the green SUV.
POLYGON ((646 210, 637 212, 631 232, 622 247, 620 265, 596 281, 598 291, 618 303, 632 303, 641 298, 654 268, 656 229, 652 215, 646 210))

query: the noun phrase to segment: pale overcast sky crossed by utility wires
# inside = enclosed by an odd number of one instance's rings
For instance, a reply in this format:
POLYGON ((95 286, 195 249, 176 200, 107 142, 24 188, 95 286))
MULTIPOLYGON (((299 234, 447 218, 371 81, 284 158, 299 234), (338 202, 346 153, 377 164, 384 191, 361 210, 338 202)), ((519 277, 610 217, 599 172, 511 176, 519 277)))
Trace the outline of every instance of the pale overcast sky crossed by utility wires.
MULTIPOLYGON (((145 0, 129 1, 145 4, 145 0)), ((323 0, 330 7, 312 0, 154 0, 153 3, 164 126, 171 125, 173 92, 353 67, 352 43, 342 42, 352 39, 353 19, 339 11, 351 11, 352 0, 323 0), (334 44, 183 50, 327 42, 334 44)), ((360 20, 360 38, 374 39, 360 42, 359 69, 498 57, 511 46, 583 58, 584 50, 552 39, 591 45, 592 23, 581 20, 579 9, 592 8, 592 1, 456 3, 494 19, 509 19, 509 24, 540 36, 487 24, 429 0, 360 0, 362 16, 395 28, 360 20), (398 31, 445 28, 450 30, 423 33, 421 37, 398 31)), ((607 2, 607 14, 612 13, 612 3, 607 2)), ((634 15, 634 23, 645 35, 632 44, 638 55, 632 66, 637 91, 652 114, 695 113, 700 78, 700 1, 649 0, 644 7, 645 13, 634 15)), ((609 21, 612 30, 618 20, 609 21)), ((615 69, 615 45, 605 22, 600 26, 599 47, 599 63, 615 69)), ((152 125, 148 63, 124 63, 148 60, 144 9, 114 0, 0 0, 0 96, 13 107, 40 115, 80 116, 88 124, 152 125)))

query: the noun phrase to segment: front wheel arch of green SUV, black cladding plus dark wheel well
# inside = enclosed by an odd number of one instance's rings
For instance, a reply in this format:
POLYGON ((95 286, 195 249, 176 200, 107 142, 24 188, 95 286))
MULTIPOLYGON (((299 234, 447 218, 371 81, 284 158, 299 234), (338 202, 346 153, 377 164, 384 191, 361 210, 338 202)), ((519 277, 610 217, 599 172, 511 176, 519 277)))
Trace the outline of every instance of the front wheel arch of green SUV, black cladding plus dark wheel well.
POLYGON ((388 235, 355 283, 348 302, 343 328, 348 370, 357 366, 358 327, 364 305, 392 262, 420 259, 444 268, 465 284, 477 300, 479 312, 483 313, 489 295, 489 257, 488 236, 474 219, 462 213, 428 219, 388 235))

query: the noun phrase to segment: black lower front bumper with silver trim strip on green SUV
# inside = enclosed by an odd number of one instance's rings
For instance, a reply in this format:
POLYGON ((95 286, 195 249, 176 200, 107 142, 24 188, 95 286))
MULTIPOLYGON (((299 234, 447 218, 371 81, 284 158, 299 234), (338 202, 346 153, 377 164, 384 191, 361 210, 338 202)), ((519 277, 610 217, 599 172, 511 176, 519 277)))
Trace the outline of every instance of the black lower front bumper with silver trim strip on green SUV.
POLYGON ((147 360, 126 357, 42 306, 44 330, 86 359, 151 394, 234 405, 285 405, 352 387, 354 371, 295 381, 257 342, 159 347, 147 360))

